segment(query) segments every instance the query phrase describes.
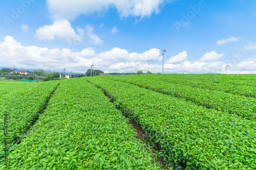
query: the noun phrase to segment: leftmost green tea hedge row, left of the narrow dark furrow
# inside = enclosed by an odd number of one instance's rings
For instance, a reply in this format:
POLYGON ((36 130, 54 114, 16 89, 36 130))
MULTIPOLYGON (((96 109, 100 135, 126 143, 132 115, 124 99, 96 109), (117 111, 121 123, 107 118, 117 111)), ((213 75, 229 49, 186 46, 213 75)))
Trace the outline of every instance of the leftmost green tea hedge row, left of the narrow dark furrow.
POLYGON ((24 137, 25 132, 30 129, 58 83, 33 83, 25 86, 17 86, 10 88, 8 93, 1 96, 1 150, 6 140, 8 140, 10 147, 12 142, 16 142, 17 139, 24 137), (8 115, 8 122, 4 123, 6 114, 8 115), (4 126, 8 127, 7 138, 4 135, 4 126))

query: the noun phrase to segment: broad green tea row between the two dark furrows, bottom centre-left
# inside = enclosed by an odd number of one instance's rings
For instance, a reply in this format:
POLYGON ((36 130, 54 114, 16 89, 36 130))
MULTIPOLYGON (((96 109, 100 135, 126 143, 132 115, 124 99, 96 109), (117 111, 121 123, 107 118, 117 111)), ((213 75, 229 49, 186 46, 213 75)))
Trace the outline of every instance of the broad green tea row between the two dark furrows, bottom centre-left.
POLYGON ((63 80, 44 114, 9 155, 11 169, 160 169, 104 93, 63 80))

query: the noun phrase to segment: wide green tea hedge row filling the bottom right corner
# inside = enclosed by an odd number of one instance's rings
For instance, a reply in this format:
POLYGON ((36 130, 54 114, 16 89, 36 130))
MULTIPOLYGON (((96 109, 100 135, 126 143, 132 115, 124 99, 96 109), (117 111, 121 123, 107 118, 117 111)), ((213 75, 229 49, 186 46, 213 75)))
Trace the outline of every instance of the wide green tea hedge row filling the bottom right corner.
POLYGON ((137 119, 168 166, 256 169, 256 122, 107 78, 84 78, 137 119))

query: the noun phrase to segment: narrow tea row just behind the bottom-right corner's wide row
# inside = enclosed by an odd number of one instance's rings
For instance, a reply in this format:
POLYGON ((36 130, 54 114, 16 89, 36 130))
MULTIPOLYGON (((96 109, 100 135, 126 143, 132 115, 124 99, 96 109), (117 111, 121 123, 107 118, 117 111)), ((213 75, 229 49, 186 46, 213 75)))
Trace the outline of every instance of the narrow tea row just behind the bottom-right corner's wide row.
POLYGON ((154 79, 155 75, 122 76, 108 77, 122 82, 128 82, 143 88, 151 89, 163 94, 169 94, 186 101, 196 103, 199 106, 216 109, 218 111, 237 114, 247 119, 256 119, 256 99, 246 98, 245 96, 233 95, 216 90, 177 85, 162 81, 161 77, 154 79))

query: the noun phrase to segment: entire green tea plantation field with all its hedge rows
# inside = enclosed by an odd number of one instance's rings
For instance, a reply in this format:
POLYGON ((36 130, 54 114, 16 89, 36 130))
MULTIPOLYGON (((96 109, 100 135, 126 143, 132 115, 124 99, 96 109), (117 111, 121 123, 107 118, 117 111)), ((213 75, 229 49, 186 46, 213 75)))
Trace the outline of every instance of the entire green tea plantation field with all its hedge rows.
POLYGON ((0 84, 0 169, 256 169, 255 86, 256 75, 0 84))

